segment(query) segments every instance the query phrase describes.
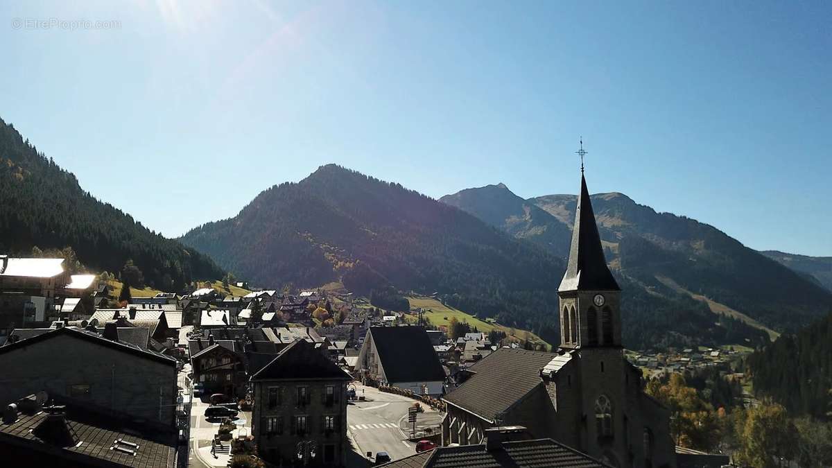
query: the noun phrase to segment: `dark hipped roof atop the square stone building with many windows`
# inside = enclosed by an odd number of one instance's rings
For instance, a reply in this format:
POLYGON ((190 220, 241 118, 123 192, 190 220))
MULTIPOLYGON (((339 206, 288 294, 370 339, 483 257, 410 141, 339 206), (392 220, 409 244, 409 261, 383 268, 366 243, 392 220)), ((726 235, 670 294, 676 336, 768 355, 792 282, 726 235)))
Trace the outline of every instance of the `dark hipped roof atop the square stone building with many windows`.
POLYGON ((269 364, 251 376, 252 381, 273 379, 351 381, 352 377, 316 350, 312 344, 297 340, 286 346, 269 364))

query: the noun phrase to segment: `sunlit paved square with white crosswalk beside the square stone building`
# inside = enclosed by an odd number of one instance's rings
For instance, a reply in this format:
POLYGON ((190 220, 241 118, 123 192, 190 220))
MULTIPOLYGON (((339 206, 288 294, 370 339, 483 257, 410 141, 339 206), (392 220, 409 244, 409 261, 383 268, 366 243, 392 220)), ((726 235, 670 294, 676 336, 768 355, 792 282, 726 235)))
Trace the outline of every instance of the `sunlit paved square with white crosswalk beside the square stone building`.
MULTIPOLYGON (((361 456, 368 451, 386 451, 398 460, 416 453, 416 444, 408 441, 408 408, 414 400, 405 396, 384 393, 373 387, 357 386, 357 395, 368 401, 356 401, 347 406, 347 431, 354 441, 354 450, 361 456)), ((417 427, 438 426, 442 414, 437 411, 418 413, 417 427)))

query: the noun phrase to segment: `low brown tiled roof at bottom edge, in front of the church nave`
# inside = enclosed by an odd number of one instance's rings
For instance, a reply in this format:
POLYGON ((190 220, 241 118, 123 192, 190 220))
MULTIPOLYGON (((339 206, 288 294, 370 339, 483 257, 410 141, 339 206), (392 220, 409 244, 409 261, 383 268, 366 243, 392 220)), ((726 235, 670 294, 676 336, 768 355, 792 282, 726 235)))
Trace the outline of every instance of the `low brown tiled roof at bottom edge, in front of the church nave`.
POLYGON ((414 456, 392 461, 382 466, 395 468, 500 468, 502 466, 529 468, 603 468, 601 461, 564 446, 552 439, 503 442, 502 448, 486 450, 485 444, 476 446, 437 447, 414 456))

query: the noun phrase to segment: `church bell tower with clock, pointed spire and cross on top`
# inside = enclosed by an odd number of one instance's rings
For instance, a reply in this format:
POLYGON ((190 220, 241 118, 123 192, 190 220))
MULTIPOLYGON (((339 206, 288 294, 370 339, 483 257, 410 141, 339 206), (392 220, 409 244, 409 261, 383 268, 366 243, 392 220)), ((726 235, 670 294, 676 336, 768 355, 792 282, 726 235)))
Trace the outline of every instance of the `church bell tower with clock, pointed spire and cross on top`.
POLYGON ((560 297, 561 347, 587 349, 622 347, 621 288, 607 267, 587 180, 583 177, 575 208, 575 226, 567 271, 557 288, 560 297))

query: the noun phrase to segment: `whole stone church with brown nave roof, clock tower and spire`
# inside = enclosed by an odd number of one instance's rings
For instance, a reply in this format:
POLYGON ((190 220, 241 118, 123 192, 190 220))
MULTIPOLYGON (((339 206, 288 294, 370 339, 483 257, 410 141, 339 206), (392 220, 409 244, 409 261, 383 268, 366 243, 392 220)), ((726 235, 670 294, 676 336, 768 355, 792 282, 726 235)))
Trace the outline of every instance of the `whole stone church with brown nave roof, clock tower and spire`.
POLYGON ((557 352, 501 348, 471 366, 443 398, 443 445, 479 444, 488 428, 522 426, 532 439, 553 439, 610 466, 674 467, 670 411, 642 391, 641 371, 624 356, 621 288, 607 267, 581 172, 557 290, 557 352))

